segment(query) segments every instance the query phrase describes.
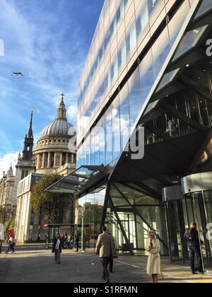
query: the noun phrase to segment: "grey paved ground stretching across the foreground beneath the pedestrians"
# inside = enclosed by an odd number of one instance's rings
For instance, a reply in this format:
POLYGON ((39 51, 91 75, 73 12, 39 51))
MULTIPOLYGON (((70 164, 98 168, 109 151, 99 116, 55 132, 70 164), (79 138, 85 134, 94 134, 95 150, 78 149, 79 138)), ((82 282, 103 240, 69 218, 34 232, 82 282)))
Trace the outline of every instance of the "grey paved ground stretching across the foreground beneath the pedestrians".
MULTIPOLYGON (((148 283, 151 277, 146 275, 146 257, 120 255, 114 261, 112 283, 148 283)), ((173 265, 163 260, 165 283, 211 283, 212 276, 196 274, 192 276, 189 267, 173 265)), ((15 255, 0 255, 0 283, 102 283, 100 259, 94 249, 86 252, 65 250, 61 256, 61 265, 54 264, 51 250, 45 246, 17 246, 15 255)))

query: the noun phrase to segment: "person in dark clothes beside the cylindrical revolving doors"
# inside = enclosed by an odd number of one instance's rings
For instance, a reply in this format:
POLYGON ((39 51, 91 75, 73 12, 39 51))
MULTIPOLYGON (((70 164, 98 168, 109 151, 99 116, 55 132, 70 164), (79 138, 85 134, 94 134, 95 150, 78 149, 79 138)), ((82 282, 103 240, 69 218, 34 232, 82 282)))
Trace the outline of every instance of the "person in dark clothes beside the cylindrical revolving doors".
POLYGON ((198 262, 198 271, 200 274, 204 274, 204 268, 201 258, 201 245, 204 244, 199 238, 199 232, 197 231, 197 224, 194 222, 191 224, 190 228, 184 233, 184 240, 187 243, 189 249, 189 257, 191 264, 192 274, 195 274, 195 255, 198 262))

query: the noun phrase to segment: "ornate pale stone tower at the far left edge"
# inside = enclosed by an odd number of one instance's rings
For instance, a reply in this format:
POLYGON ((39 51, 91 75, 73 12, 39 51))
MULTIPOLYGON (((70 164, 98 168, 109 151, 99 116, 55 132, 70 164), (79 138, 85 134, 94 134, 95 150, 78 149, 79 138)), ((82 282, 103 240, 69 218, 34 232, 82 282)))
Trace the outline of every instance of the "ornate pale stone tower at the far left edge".
POLYGON ((0 206, 6 208, 4 221, 14 219, 16 216, 16 199, 13 199, 15 176, 12 165, 7 173, 3 173, 0 180, 0 206))

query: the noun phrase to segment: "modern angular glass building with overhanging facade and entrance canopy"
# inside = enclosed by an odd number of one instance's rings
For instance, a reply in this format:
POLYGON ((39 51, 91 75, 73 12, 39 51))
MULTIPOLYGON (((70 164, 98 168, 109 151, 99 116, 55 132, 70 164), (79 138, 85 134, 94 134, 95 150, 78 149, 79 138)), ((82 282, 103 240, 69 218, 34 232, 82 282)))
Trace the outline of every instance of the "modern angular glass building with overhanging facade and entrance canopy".
POLYGON ((52 187, 81 207, 101 205, 99 228, 106 223, 131 254, 155 230, 163 255, 187 260, 184 230, 197 221, 206 269, 211 16, 209 0, 105 0, 78 87, 79 169, 52 187), (143 158, 129 143, 144 146, 143 158))

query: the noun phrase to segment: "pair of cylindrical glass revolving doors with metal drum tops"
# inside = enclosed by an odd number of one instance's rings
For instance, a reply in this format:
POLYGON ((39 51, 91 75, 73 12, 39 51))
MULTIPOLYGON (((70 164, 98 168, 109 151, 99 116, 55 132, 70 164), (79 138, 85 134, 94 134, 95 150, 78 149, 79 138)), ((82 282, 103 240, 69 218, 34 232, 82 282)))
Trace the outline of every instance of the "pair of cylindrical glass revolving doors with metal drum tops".
POLYGON ((212 274, 212 173, 182 178, 182 185, 163 189, 166 206, 170 260, 189 259, 184 232, 196 222, 199 230, 204 272, 212 274))

